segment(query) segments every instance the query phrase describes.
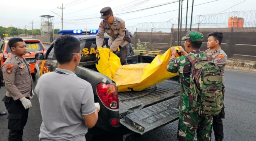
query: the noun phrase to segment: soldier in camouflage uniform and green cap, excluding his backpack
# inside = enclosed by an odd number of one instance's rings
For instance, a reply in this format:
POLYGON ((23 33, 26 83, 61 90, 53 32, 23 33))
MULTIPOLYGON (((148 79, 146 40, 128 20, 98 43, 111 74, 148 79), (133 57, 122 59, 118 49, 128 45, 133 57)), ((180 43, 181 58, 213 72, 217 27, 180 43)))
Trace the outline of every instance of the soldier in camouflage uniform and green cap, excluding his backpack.
POLYGON ((183 56, 175 59, 176 49, 171 48, 172 57, 167 66, 167 71, 172 73, 179 72, 181 84, 181 100, 179 105, 179 127, 178 139, 180 141, 194 141, 195 134, 199 141, 211 141, 212 116, 200 116, 195 113, 189 104, 189 91, 191 66, 189 59, 184 56, 187 53, 195 55, 197 58, 212 60, 207 54, 201 53, 199 48, 202 45, 204 36, 200 32, 189 31, 184 40, 185 50, 182 47, 180 51, 183 56))

